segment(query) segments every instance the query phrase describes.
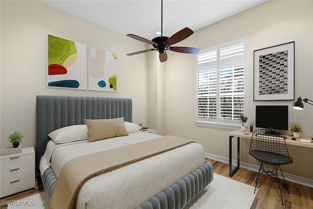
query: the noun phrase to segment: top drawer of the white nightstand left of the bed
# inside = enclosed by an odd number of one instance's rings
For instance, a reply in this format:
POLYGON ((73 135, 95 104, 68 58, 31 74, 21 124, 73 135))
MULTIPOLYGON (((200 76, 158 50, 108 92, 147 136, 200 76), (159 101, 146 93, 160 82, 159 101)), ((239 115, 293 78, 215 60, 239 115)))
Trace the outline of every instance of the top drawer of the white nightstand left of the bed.
POLYGON ((13 169, 34 165, 34 162, 35 153, 3 158, 0 160, 1 173, 4 171, 10 171, 13 169))

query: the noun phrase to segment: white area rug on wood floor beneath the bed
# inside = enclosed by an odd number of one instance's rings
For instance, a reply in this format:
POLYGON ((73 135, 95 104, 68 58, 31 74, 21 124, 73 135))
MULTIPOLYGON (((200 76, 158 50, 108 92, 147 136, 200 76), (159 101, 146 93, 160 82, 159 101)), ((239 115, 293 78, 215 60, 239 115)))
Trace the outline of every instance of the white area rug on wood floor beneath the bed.
MULTIPOLYGON (((214 173, 214 180, 184 209, 250 209, 256 194, 254 186, 214 173)), ((45 209, 45 192, 13 201, 8 209, 45 209)))

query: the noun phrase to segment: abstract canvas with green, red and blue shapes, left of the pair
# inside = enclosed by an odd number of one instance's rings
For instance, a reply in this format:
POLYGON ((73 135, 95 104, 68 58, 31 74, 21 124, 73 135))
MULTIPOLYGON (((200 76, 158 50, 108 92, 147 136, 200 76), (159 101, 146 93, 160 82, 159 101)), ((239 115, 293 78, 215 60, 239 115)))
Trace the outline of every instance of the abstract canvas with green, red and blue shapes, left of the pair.
POLYGON ((48 34, 47 87, 87 89, 87 46, 48 34))

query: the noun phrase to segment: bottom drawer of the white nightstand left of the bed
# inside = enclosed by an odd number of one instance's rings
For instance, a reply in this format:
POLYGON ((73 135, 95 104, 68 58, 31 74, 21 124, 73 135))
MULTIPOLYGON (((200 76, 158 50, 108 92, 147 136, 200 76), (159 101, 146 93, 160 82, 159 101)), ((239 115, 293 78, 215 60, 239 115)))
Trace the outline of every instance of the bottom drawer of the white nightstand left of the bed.
POLYGON ((4 197, 33 187, 35 187, 34 176, 1 185, 0 194, 1 197, 4 197))

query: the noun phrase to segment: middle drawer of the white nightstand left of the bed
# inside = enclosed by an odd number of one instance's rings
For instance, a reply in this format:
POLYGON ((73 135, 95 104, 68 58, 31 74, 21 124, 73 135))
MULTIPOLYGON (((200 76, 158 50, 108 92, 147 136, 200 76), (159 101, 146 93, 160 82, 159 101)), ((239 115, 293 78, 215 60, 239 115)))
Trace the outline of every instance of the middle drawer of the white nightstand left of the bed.
POLYGON ((35 165, 1 172, 0 176, 1 187, 3 184, 15 182, 17 180, 21 180, 27 177, 35 178, 35 165))

